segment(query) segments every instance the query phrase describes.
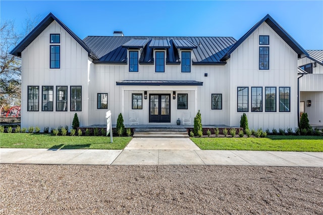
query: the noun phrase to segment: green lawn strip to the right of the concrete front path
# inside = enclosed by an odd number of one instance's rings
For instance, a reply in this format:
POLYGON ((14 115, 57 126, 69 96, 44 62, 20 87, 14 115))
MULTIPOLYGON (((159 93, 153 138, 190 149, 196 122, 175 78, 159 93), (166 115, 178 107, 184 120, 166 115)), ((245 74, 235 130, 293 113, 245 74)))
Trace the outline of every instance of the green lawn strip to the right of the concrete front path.
POLYGON ((202 150, 323 152, 323 136, 192 137, 202 150))

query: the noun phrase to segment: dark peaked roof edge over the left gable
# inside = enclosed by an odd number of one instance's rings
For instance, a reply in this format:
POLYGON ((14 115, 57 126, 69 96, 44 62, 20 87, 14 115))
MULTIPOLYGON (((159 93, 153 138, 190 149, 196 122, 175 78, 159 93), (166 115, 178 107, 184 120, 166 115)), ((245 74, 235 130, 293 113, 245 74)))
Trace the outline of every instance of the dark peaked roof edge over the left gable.
POLYGON ((92 50, 81 40, 71 29, 69 29, 63 22, 61 22, 54 15, 49 13, 20 43, 10 52, 10 54, 15 56, 21 56, 21 52, 27 48, 27 46, 32 43, 38 37, 41 32, 45 30, 53 21, 60 24, 88 53, 89 56, 96 60, 98 57, 92 52, 92 50))

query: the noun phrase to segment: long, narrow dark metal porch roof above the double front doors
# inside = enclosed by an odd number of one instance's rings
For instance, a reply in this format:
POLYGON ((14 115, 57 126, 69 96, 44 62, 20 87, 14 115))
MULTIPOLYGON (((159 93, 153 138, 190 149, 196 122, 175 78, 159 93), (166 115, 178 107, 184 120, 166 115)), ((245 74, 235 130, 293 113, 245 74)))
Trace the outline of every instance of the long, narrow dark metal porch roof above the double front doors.
POLYGON ((135 81, 125 80, 116 82, 117 85, 128 86, 203 86, 203 82, 198 81, 135 81))

